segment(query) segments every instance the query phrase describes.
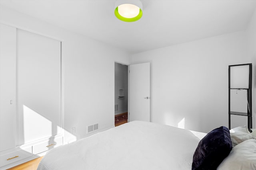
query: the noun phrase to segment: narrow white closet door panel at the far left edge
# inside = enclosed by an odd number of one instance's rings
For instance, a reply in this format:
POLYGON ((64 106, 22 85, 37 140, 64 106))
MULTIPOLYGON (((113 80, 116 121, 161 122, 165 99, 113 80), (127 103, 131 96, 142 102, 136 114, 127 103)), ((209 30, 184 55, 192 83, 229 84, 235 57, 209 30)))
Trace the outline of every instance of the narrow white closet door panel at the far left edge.
POLYGON ((16 28, 0 24, 0 151, 15 147, 16 28))

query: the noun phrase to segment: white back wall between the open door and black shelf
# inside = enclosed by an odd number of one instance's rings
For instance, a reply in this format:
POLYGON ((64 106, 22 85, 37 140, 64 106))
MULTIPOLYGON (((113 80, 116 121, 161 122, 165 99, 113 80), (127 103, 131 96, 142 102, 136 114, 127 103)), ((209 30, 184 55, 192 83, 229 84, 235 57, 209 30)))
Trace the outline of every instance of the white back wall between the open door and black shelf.
POLYGON ((132 55, 151 63, 151 121, 209 132, 228 127, 228 65, 252 63, 243 31, 132 55))

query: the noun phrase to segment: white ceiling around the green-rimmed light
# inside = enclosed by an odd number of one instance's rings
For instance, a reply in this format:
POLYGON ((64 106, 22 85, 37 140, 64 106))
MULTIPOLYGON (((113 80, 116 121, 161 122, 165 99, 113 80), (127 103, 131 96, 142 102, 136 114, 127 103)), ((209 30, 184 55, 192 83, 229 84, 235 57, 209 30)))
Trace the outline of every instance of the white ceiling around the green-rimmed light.
POLYGON ((114 16, 115 2, 0 0, 0 5, 132 54, 245 30, 256 8, 256 0, 142 0, 142 18, 123 22, 114 16))

